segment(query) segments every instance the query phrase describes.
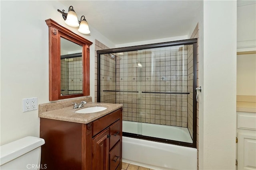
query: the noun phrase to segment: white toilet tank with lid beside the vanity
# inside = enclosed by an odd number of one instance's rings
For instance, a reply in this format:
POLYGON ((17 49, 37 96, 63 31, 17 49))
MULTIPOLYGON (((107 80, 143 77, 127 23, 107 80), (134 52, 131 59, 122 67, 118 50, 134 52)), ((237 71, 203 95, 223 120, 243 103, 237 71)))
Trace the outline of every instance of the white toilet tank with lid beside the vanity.
POLYGON ((40 164, 41 146, 44 139, 24 137, 0 147, 1 170, 38 170, 47 169, 40 164))

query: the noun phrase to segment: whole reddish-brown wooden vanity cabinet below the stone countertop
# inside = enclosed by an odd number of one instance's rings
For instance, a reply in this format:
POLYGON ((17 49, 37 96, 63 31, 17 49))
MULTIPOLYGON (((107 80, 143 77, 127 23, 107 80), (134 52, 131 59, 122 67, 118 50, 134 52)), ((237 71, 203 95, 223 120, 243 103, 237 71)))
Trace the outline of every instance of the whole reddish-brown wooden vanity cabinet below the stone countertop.
POLYGON ((122 108, 88 124, 40 118, 49 170, 121 170, 122 108))

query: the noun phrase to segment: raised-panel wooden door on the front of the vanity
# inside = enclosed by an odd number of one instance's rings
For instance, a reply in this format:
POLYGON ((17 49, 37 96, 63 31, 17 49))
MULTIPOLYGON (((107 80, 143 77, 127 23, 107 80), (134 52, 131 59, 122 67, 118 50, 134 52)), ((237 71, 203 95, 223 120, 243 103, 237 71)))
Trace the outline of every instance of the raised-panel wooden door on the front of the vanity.
POLYGON ((108 170, 109 129, 92 139, 92 169, 108 170))

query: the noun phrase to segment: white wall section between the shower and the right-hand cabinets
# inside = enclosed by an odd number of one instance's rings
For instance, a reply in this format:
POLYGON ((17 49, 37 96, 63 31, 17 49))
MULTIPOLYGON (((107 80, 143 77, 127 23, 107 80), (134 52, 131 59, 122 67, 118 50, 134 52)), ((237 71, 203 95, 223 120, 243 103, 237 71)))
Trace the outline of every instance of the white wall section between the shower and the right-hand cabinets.
POLYGON ((204 1, 204 170, 236 169, 235 25, 236 1, 204 1))

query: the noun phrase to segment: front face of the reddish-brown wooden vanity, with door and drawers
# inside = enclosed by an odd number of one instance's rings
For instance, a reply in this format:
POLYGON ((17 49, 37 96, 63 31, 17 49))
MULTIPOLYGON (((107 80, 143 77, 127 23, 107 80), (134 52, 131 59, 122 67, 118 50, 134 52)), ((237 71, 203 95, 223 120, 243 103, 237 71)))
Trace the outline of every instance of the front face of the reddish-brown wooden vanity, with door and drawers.
POLYGON ((120 164, 120 155, 122 157, 122 148, 120 149, 119 144, 122 135, 122 123, 120 123, 122 118, 120 119, 119 112, 119 110, 114 111, 92 123, 92 134, 95 135, 92 138, 92 170, 120 170, 117 168, 120 164), (101 132, 98 133, 99 131, 101 132))

